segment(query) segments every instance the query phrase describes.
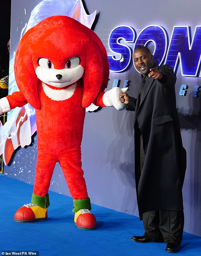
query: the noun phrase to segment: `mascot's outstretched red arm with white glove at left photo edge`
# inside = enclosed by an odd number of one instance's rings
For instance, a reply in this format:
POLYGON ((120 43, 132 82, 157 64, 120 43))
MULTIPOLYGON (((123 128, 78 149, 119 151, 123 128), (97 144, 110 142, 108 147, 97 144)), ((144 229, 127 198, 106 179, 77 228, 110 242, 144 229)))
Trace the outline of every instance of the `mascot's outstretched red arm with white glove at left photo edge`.
POLYGON ((0 114, 9 112, 15 107, 23 107, 27 103, 28 102, 21 91, 14 92, 11 95, 0 99, 0 114))

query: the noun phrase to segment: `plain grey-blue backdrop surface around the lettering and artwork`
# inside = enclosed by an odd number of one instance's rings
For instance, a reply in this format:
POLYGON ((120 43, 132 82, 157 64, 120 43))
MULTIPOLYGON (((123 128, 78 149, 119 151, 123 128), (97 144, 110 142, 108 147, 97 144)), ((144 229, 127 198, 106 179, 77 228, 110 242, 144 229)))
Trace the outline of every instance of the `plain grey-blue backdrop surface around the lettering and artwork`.
MULTIPOLYGON (((11 55, 16 51, 22 27, 28 22, 31 10, 39 2, 12 2, 11 55)), ((107 44, 109 34, 119 25, 133 27, 137 35, 148 25, 160 25, 166 30, 168 41, 175 25, 190 26, 193 35, 195 26, 201 23, 201 3, 199 0, 186 1, 185 4, 184 2, 85 0, 89 13, 97 10, 94 31, 101 38, 108 54, 111 54, 107 44)), ((131 48, 133 45, 130 44, 131 48)), ((121 80, 120 87, 123 87, 125 79, 130 80, 128 93, 132 96, 137 95, 140 76, 133 65, 126 72, 111 72, 107 89, 112 88, 114 78, 121 80)), ((200 97, 192 97, 195 85, 201 85, 201 78, 182 76, 178 66, 175 86, 177 108, 183 144, 187 151, 187 170, 183 188, 185 231, 201 236, 201 119, 200 97), (182 84, 189 86, 186 96, 179 95, 182 84)), ((134 180, 133 114, 128 111, 118 112, 113 107, 101 108, 95 113, 87 112, 81 148, 84 176, 91 202, 138 216, 134 180)), ((12 161, 4 169, 7 176, 34 183, 36 143, 37 135, 34 135, 32 146, 16 150, 12 161)), ((59 165, 55 167, 50 190, 70 196, 59 165)), ((30 196, 31 193, 32 191, 30 196)))

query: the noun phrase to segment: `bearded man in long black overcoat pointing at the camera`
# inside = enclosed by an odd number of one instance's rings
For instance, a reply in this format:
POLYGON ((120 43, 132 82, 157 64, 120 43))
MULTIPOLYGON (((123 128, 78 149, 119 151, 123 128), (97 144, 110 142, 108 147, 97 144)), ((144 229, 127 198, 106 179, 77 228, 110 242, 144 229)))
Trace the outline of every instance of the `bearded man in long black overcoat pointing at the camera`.
POLYGON ((135 182, 140 220, 145 233, 138 243, 165 242, 176 253, 182 241, 184 212, 182 186, 186 151, 176 108, 176 75, 168 65, 158 66, 147 47, 133 52, 141 73, 137 98, 120 93, 126 110, 135 111, 135 182))

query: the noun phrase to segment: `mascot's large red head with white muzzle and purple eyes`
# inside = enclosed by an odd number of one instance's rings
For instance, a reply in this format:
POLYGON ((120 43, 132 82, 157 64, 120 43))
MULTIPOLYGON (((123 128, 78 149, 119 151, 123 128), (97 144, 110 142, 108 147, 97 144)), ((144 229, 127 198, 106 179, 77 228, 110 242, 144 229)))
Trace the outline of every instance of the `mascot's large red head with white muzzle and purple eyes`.
POLYGON ((29 104, 40 108, 37 81, 68 89, 83 77, 82 107, 88 107, 109 77, 107 52, 88 27, 67 16, 52 16, 29 29, 15 56, 15 79, 29 104))

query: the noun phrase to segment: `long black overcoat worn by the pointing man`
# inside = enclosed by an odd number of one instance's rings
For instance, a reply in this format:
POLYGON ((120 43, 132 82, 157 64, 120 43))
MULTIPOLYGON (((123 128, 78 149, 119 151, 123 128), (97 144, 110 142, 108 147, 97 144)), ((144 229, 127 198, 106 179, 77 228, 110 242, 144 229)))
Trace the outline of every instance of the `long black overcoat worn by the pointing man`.
POLYGON ((186 151, 176 109, 176 75, 168 66, 154 68, 165 73, 167 81, 147 76, 139 101, 130 97, 126 110, 135 111, 135 182, 140 219, 153 210, 183 210, 182 186, 186 169, 186 151), (146 154, 140 170, 140 134, 146 154))

